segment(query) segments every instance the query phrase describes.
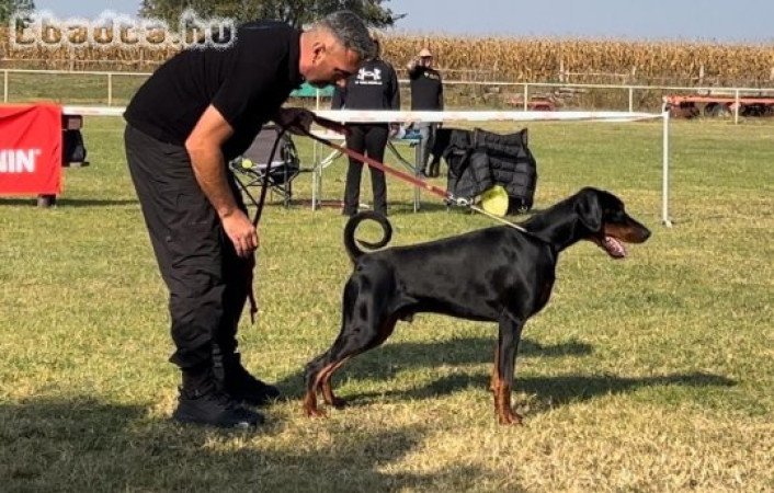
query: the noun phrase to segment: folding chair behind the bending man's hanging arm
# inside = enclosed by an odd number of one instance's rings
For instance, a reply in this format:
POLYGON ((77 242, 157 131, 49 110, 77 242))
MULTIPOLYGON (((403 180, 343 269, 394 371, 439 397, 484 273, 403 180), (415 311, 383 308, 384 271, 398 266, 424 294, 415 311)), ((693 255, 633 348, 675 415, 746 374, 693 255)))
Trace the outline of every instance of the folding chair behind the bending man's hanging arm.
POLYGON ((229 163, 237 184, 255 206, 258 200, 249 188, 257 187, 260 191, 266 180, 266 173, 269 173, 269 192, 280 195, 285 207, 291 205, 293 198, 293 179, 300 173, 301 169, 296 145, 288 134, 282 136, 274 160, 271 163, 268 162, 278 135, 280 128, 276 125, 264 125, 248 150, 229 163))

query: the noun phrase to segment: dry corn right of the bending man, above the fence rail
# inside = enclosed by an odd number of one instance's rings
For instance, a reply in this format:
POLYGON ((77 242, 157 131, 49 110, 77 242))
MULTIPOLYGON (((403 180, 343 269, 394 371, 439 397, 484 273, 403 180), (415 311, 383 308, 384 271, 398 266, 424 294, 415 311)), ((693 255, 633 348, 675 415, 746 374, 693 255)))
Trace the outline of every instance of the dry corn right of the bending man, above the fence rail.
POLYGON ((387 36, 384 45, 400 66, 426 46, 440 67, 483 80, 774 85, 774 45, 444 36, 387 36))

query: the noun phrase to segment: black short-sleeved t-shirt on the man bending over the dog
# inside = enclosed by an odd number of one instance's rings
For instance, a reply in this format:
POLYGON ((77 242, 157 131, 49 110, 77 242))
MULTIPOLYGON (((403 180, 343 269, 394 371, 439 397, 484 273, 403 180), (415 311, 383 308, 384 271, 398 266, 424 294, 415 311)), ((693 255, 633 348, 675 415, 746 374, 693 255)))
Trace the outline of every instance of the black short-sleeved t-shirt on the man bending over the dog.
POLYGON ((234 128, 223 148, 230 160, 247 150, 303 82, 299 37, 281 22, 251 22, 237 28, 228 48, 183 50, 140 87, 124 118, 158 140, 182 146, 212 104, 234 128))

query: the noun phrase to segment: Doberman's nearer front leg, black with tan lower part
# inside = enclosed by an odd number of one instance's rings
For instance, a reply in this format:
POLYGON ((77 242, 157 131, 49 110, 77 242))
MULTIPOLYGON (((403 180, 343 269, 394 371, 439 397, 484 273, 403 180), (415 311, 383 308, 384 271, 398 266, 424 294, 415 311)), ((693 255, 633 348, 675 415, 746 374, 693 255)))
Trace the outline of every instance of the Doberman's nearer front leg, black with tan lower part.
POLYGON ((522 416, 514 413, 511 408, 511 388, 523 326, 524 322, 509 313, 503 313, 500 319, 491 383, 494 393, 494 412, 500 424, 522 424, 522 416))

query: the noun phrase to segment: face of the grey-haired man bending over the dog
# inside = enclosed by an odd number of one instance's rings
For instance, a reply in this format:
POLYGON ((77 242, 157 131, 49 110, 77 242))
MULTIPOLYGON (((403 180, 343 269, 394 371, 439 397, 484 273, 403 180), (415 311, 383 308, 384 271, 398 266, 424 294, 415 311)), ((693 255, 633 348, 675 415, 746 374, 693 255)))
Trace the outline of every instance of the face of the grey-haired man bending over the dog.
POLYGON ((357 72, 360 57, 335 41, 320 41, 311 46, 309 62, 301 67, 306 81, 317 88, 338 83, 357 72))

